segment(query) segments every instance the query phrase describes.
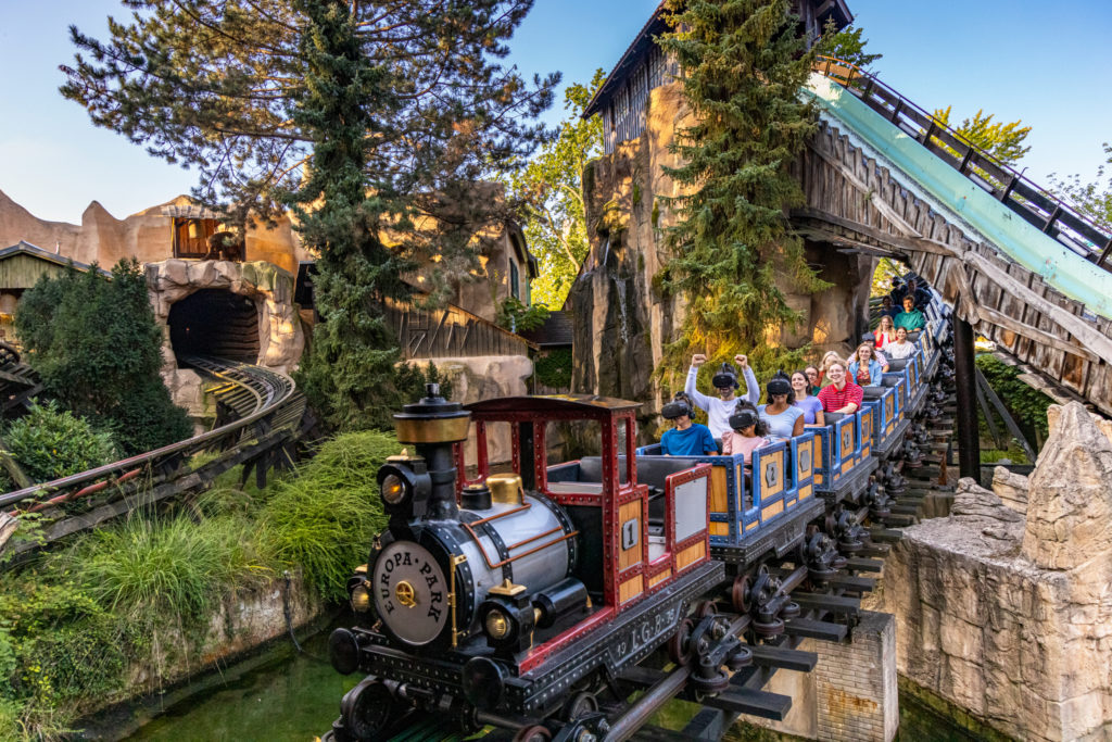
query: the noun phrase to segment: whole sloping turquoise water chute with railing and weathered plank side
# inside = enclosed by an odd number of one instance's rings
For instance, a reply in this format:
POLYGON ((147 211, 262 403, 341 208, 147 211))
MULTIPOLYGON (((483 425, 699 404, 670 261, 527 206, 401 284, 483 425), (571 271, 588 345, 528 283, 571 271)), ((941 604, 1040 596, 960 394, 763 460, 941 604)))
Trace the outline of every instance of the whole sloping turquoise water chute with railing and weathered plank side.
POLYGON ((1025 380, 1112 414, 1112 230, 875 77, 825 58, 816 72, 796 228, 906 260, 1025 380))

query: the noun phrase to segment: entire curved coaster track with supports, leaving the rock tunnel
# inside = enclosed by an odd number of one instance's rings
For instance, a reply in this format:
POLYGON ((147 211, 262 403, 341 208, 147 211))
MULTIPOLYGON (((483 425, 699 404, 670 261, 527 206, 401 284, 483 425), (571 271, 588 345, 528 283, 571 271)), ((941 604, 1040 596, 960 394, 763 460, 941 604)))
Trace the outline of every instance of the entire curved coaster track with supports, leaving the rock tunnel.
MULTIPOLYGON (((50 543, 137 507, 203 489, 216 476, 239 464, 245 465, 245 479, 255 469, 260 486, 266 484, 269 468, 292 464, 292 444, 304 432, 306 403, 289 376, 208 356, 182 360, 214 382, 207 388, 217 406, 212 429, 80 474, 0 495, 0 516, 18 518, 24 513, 41 512, 56 517, 43 534, 44 542, 50 543)), ((37 545, 13 544, 9 552, 18 554, 37 545)))

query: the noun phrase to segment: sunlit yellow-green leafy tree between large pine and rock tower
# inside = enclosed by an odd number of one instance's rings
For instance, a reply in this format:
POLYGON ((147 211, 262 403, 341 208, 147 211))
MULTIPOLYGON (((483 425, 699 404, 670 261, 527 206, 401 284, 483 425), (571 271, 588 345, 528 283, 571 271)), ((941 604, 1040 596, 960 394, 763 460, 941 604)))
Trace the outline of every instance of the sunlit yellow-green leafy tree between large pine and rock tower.
POLYGON ((583 178, 587 162, 602 155, 603 122, 598 116, 584 119, 582 115, 605 79, 598 69, 589 85, 567 87, 564 110, 568 116, 559 123, 559 136, 507 179, 513 195, 525 204, 525 238, 540 268, 530 293, 550 307, 564 306, 587 257, 583 178))

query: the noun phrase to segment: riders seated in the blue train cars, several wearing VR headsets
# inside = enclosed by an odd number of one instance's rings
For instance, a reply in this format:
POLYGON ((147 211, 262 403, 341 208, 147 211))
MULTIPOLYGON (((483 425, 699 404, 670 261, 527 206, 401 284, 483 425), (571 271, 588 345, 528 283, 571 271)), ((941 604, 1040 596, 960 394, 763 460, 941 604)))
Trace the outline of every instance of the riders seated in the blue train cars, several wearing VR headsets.
POLYGON ((699 366, 706 356, 696 353, 687 370, 683 392, 661 410, 674 427, 661 437, 661 453, 668 456, 713 456, 741 454, 749 464, 751 454, 761 446, 801 435, 807 426, 826 424, 827 413, 855 413, 864 398, 865 386, 878 386, 888 370, 888 358, 906 358, 915 352, 907 334, 926 326, 920 307, 931 300, 927 289, 914 278, 892 281, 891 294, 881 299, 880 324, 862 337, 853 355, 845 359, 831 350, 818 366, 786 374, 777 372, 765 385, 766 404, 757 405, 761 387, 744 355, 734 364, 724 363, 711 383, 717 396, 696 388, 699 366), (897 308, 897 307, 902 307, 897 308), (738 376, 745 394, 738 396, 738 376), (707 424, 692 418, 695 408, 707 415, 707 424), (722 442, 721 448, 718 441, 722 442))

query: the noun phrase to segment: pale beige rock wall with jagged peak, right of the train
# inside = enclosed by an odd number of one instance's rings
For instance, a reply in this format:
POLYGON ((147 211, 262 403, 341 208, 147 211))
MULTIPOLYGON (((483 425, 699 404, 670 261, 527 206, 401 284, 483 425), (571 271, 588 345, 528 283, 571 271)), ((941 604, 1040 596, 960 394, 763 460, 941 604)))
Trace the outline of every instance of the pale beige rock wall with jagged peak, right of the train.
POLYGON ((1112 738, 1112 441, 1078 404, 1005 503, 962 479, 884 566, 900 673, 1015 739, 1112 738), (1025 493, 1025 514, 1013 503, 1025 493))

